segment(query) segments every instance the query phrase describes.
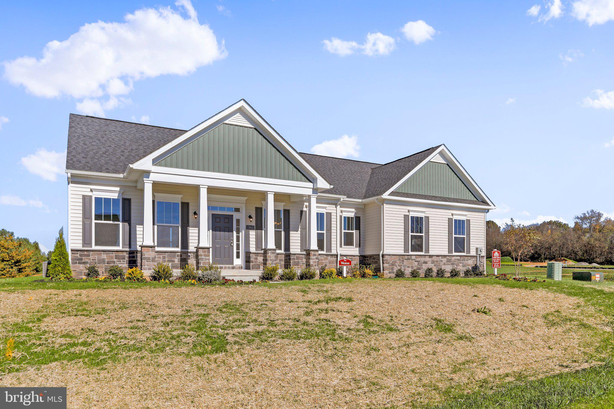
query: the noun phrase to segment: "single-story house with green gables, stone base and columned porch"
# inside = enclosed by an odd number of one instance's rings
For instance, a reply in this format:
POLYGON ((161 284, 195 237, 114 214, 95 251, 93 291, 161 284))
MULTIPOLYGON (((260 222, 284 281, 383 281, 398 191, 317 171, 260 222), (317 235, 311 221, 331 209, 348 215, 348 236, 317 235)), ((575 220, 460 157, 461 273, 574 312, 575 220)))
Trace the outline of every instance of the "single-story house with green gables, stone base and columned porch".
POLYGON ((299 153, 243 99, 188 131, 71 114, 66 174, 77 277, 158 262, 483 268, 495 208, 445 145, 386 164, 299 153))

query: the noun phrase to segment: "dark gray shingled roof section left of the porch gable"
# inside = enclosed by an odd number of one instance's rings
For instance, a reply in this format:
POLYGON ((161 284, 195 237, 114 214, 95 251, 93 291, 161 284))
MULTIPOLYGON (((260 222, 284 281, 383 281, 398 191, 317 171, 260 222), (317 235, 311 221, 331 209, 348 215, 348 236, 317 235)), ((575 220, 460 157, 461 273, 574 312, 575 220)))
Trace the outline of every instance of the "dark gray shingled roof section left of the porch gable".
POLYGON ((67 170, 123 174, 129 164, 184 134, 161 128, 71 113, 68 122, 67 170))

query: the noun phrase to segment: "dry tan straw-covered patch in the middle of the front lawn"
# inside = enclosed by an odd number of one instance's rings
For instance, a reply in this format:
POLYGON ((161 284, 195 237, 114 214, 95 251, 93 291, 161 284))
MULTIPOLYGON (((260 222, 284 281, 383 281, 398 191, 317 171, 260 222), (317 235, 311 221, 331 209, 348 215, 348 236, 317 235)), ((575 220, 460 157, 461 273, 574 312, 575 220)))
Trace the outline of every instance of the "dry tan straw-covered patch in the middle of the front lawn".
MULTIPOLYGON (((41 292, 20 296, 28 294, 41 292)), ((37 326, 49 345, 58 334, 113 334, 137 345, 154 333, 179 335, 168 348, 130 351, 101 367, 55 362, 2 378, 7 386, 68 383, 71 407, 404 405, 455 384, 586 365, 581 331, 543 319, 556 310, 581 318, 581 300, 542 290, 359 280, 46 296, 56 304, 79 299, 97 312, 45 318, 37 326), (484 306, 491 315, 475 312, 484 306), (223 334, 227 351, 190 354, 198 334, 186 327, 199 318, 223 334)), ((0 314, 15 319, 4 306, 0 314)))

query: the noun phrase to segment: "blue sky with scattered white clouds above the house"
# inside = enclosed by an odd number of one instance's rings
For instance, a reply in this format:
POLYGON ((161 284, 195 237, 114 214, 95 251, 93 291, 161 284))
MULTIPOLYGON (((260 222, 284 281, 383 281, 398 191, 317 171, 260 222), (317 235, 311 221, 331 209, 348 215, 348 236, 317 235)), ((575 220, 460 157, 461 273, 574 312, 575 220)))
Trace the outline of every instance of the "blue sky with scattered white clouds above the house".
POLYGON ((69 113, 188 129, 241 98, 299 151, 445 143, 499 222, 614 216, 614 0, 2 2, 0 37, 0 227, 46 248, 69 113))

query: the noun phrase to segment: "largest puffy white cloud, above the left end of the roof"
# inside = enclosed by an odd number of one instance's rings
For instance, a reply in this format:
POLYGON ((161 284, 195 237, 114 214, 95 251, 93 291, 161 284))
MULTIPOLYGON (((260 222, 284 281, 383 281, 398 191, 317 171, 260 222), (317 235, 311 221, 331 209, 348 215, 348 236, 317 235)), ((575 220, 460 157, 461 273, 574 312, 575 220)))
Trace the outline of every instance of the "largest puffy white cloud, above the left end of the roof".
POLYGON ((103 116, 130 101, 118 96, 130 93, 134 81, 187 75, 227 55, 189 0, 175 4, 187 18, 171 7, 145 7, 127 13, 122 23, 88 23, 64 41, 49 42, 40 59, 7 61, 4 77, 35 96, 80 99, 80 112, 103 116))

